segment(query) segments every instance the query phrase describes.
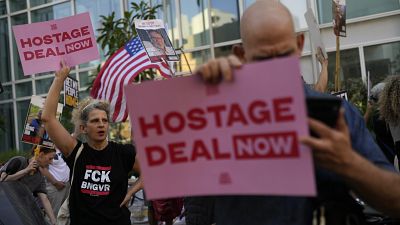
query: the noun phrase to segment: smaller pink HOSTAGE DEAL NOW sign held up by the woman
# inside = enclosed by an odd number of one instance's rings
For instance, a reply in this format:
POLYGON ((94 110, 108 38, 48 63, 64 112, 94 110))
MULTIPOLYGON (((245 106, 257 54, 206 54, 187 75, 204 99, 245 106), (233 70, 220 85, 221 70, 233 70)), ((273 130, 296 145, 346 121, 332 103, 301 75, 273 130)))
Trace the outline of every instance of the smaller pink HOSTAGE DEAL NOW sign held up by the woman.
POLYGON ((13 26, 25 75, 54 71, 99 58, 89 13, 13 26))

